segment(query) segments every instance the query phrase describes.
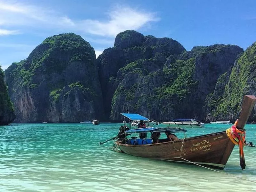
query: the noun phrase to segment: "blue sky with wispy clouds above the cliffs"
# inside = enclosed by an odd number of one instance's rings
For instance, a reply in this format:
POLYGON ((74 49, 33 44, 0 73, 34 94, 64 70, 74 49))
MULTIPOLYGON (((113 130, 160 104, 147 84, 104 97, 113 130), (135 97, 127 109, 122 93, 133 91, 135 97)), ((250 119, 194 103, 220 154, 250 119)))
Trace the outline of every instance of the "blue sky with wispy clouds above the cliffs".
POLYGON ((73 32, 98 56, 118 33, 170 37, 187 51, 198 45, 256 41, 255 0, 0 0, 0 65, 26 59, 42 41, 73 32))

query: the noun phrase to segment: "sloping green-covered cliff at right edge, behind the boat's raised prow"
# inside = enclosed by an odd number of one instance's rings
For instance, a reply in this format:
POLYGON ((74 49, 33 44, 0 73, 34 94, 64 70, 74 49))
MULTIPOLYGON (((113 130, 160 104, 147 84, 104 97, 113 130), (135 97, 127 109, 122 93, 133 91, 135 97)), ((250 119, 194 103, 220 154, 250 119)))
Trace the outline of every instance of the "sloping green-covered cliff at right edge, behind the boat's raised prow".
MULTIPOLYGON (((219 77, 213 93, 207 96, 209 119, 235 121, 243 103, 244 95, 256 95, 256 42, 238 56, 230 71, 219 77)), ((256 108, 248 121, 256 122, 256 108)))

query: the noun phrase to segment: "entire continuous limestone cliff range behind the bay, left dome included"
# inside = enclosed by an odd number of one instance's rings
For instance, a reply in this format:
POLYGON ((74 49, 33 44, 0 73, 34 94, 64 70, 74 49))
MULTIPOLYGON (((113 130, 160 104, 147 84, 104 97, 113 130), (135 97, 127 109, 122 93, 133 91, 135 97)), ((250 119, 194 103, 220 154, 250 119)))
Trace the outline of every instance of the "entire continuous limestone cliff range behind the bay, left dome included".
MULTIPOLYGON (((255 44, 197 46, 124 31, 96 60, 80 36, 48 37, 6 71, 16 122, 237 118, 244 94, 255 94, 255 44)), ((254 108, 255 110, 255 108, 254 108)), ((256 116, 251 120, 256 122, 256 116)))

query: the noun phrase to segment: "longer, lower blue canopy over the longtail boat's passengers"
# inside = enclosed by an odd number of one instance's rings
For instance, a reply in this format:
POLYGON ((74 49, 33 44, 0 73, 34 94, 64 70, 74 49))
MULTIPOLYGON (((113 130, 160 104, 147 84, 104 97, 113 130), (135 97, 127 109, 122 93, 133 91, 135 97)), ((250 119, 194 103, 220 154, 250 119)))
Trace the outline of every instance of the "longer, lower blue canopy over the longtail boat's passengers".
POLYGON ((185 129, 178 127, 148 127, 143 129, 130 129, 126 133, 141 133, 141 132, 165 132, 170 131, 171 133, 187 132, 185 129))

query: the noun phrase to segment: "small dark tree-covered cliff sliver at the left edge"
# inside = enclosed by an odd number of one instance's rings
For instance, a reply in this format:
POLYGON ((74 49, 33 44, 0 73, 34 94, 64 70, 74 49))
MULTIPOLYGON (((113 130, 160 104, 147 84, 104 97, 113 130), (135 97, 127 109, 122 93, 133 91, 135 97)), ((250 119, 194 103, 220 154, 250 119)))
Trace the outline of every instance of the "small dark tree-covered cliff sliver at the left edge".
POLYGON ((0 67, 0 125, 12 123, 15 119, 14 108, 4 82, 4 71, 0 67))

